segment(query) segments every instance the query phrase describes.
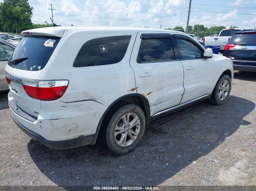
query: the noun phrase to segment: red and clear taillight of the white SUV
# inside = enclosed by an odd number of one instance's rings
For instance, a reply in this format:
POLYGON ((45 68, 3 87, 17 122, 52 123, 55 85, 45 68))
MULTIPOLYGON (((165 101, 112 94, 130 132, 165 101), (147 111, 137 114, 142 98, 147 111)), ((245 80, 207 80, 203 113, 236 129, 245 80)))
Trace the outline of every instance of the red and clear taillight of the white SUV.
POLYGON ((40 81, 22 78, 22 84, 29 97, 39 100, 57 100, 68 88, 67 80, 40 81))

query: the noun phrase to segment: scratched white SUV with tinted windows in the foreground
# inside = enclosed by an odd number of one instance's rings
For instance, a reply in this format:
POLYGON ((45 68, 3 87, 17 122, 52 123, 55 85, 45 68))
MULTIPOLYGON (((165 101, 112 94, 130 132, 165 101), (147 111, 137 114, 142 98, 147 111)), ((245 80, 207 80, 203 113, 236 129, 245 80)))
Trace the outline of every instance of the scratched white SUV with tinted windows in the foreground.
POLYGON ((5 68, 15 123, 53 149, 138 145, 150 121, 192 103, 227 101, 231 59, 189 35, 126 27, 22 32, 5 68))

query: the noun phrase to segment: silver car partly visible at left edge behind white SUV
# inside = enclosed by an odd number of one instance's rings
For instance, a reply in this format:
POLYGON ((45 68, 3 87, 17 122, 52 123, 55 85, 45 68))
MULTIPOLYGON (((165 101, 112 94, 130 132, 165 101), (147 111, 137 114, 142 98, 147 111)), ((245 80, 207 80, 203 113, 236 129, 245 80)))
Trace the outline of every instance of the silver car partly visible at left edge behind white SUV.
POLYGON ((16 45, 0 39, 0 91, 9 90, 5 78, 5 65, 12 55, 16 45))

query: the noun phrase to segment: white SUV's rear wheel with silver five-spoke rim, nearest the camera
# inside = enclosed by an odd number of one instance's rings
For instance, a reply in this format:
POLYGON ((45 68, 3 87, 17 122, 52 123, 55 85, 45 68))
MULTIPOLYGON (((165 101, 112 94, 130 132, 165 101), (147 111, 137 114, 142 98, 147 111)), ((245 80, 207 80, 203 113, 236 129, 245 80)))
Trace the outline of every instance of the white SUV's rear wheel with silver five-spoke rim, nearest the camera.
POLYGON ((145 131, 144 112, 135 104, 124 105, 109 115, 103 139, 108 149, 116 155, 132 151, 145 131))

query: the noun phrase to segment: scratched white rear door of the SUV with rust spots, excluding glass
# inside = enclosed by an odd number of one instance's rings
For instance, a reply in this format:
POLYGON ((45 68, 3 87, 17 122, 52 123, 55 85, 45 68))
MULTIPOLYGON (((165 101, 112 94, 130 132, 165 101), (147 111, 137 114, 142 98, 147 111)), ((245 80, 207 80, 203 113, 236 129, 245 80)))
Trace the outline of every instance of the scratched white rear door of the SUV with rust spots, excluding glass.
POLYGON ((158 111, 165 110, 180 103, 184 92, 184 71, 180 61, 137 63, 141 34, 142 32, 137 34, 131 54, 130 65, 135 74, 136 87, 138 87, 137 92, 143 94, 148 99, 150 114, 152 116, 158 111), (151 75, 145 77, 140 76, 147 72, 151 75))

